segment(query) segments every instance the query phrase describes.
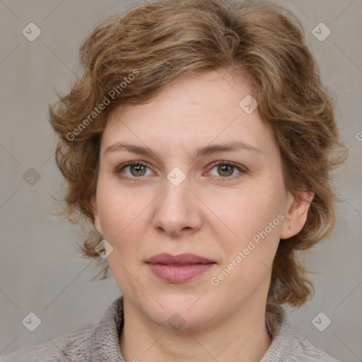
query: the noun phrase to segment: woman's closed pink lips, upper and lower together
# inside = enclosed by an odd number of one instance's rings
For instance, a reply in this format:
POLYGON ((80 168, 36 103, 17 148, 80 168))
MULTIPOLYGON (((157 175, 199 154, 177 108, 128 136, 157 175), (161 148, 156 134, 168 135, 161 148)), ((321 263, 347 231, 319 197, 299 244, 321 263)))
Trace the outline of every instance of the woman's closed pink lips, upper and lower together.
POLYGON ((203 274, 216 262, 194 254, 158 254, 146 261, 152 273, 164 281, 182 283, 203 274))

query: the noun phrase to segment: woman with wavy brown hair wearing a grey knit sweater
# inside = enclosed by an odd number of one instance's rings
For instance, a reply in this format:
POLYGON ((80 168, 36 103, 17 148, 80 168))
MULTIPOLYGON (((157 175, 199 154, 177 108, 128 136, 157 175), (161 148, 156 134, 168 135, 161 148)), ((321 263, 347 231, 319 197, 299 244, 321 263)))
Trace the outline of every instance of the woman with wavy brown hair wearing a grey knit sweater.
POLYGON ((4 361, 337 361, 282 306, 313 294, 298 251, 332 232, 346 159, 298 20, 154 1, 105 19, 80 59, 50 107, 56 160, 70 218, 95 228, 81 250, 122 297, 4 361))

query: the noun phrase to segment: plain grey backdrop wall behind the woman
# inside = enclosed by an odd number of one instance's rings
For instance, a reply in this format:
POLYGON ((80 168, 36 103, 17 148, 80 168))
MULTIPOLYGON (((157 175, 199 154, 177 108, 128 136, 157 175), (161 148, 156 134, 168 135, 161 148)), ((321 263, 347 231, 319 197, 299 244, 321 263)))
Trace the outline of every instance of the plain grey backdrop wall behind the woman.
MULTIPOLYGON (((317 271, 313 300, 288 309, 296 334, 340 361, 362 361, 362 1, 276 1, 291 9, 307 31, 322 78, 337 100, 337 122, 349 160, 334 175, 344 202, 337 228, 307 260, 317 271), (320 42, 320 22, 332 34, 320 42), (332 321, 324 332, 312 324, 320 312, 332 321)), ((49 194, 61 189, 54 163, 54 134, 47 105, 57 91, 69 91, 78 69, 78 47, 95 23, 124 11, 130 1, 0 1, 0 355, 51 341, 93 324, 120 295, 113 279, 90 281, 93 262, 74 250, 82 230, 52 213, 49 194), (41 35, 21 33, 35 23, 41 35), (23 175, 34 168, 33 186, 23 175), (36 180, 36 179, 35 179, 36 180), (33 312, 42 323, 34 332, 22 324, 33 312)))

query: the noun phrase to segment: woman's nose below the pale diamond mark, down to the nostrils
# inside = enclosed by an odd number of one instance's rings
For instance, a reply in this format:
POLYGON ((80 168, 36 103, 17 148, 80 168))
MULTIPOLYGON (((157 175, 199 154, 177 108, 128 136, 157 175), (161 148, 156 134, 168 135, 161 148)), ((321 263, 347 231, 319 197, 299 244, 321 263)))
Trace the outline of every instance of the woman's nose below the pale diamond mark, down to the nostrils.
POLYGON ((153 226, 168 235, 192 234, 202 226, 202 202, 195 197, 187 178, 178 186, 165 180, 165 190, 157 198, 153 226))

